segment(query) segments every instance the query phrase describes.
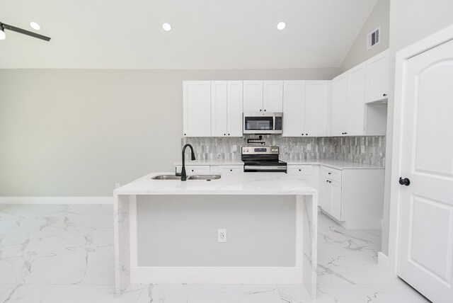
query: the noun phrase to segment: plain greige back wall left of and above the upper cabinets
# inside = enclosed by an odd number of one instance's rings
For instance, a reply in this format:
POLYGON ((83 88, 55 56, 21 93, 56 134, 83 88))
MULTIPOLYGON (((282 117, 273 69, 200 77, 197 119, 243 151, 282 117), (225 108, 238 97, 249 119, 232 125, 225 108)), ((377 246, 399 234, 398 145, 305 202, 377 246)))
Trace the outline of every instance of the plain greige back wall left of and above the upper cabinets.
POLYGON ((183 80, 332 79, 333 69, 0 69, 0 196, 108 196, 180 159, 183 80))

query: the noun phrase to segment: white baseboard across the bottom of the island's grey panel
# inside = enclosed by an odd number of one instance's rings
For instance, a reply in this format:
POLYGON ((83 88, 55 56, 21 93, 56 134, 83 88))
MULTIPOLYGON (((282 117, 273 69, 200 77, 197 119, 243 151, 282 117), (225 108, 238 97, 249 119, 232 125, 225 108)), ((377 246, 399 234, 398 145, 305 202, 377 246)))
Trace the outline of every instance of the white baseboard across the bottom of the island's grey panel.
POLYGON ((131 283, 302 284, 296 267, 133 267, 131 283))

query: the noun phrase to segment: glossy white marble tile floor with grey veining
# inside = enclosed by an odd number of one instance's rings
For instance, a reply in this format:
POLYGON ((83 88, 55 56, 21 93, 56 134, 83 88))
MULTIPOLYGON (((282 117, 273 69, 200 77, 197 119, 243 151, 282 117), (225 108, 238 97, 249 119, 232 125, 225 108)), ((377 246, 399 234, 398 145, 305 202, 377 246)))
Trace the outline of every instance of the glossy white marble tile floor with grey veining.
MULTIPOLYGON (((319 303, 429 302, 376 266, 377 230, 319 215, 319 303)), ((114 296, 112 205, 0 205, 0 303, 305 303, 299 285, 131 285, 114 296)))

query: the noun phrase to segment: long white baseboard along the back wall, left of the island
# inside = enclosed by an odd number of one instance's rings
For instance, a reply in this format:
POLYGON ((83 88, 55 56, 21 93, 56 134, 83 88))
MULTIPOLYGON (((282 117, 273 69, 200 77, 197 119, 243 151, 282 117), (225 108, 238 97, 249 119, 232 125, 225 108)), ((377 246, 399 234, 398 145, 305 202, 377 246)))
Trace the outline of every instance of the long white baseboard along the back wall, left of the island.
POLYGON ((0 204, 113 204, 112 197, 0 197, 0 204))

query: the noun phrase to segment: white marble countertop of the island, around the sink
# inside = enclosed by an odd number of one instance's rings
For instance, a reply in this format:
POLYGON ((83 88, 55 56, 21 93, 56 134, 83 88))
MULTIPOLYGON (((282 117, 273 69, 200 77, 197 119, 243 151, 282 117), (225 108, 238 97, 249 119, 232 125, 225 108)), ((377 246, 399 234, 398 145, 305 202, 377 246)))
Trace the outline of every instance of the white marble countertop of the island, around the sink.
POLYGON ((172 173, 149 173, 113 191, 114 195, 312 195, 316 189, 285 173, 225 173, 203 180, 152 180, 172 173))

